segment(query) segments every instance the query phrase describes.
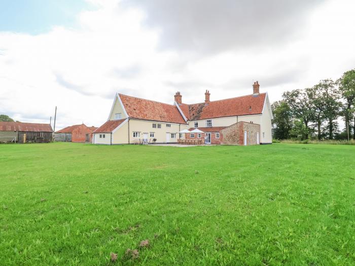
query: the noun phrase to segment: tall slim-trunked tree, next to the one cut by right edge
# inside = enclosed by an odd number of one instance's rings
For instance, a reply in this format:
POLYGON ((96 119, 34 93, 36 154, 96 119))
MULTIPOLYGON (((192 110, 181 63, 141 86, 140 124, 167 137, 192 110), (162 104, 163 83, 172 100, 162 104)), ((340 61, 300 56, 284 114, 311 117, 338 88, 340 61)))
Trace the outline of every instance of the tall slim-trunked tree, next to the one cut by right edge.
POLYGON ((334 121, 340 114, 340 93, 336 84, 331 80, 322 80, 316 86, 322 92, 324 102, 323 115, 328 120, 329 139, 333 139, 334 121))

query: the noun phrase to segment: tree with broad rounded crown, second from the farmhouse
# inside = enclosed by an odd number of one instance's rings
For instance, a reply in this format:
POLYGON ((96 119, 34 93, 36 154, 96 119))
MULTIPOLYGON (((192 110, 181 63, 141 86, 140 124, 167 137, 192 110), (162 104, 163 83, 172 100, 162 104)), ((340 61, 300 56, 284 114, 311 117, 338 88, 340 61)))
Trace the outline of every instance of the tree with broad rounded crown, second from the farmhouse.
MULTIPOLYGON (((283 100, 290 106, 293 117, 302 121, 309 132, 309 123, 314 121, 313 102, 305 90, 287 91, 282 94, 283 100)), ((308 133, 305 135, 308 138, 308 133)))

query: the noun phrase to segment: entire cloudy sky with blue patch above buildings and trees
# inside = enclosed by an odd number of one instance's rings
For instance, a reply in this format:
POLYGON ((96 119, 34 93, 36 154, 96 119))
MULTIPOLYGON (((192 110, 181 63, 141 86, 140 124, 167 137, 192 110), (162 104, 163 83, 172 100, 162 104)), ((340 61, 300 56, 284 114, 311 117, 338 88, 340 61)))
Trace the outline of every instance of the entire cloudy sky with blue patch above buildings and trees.
POLYGON ((166 103, 282 92, 355 67, 352 0, 0 0, 0 114, 107 121, 115 93, 166 103))

